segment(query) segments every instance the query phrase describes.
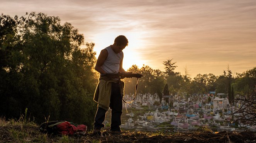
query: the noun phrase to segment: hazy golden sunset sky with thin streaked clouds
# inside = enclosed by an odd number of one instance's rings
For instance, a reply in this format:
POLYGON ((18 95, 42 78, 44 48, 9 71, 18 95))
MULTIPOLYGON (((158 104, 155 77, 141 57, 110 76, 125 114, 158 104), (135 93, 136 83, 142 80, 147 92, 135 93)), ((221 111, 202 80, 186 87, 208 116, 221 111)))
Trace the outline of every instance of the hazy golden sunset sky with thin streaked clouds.
MULTIPOLYGON (((0 0, 0 13, 58 16, 97 52, 125 35, 124 69, 136 64, 175 72, 242 73, 256 67, 256 0, 0 0)), ((85 45, 83 46, 85 47, 85 45)), ((234 74, 235 75, 235 74, 234 74)))

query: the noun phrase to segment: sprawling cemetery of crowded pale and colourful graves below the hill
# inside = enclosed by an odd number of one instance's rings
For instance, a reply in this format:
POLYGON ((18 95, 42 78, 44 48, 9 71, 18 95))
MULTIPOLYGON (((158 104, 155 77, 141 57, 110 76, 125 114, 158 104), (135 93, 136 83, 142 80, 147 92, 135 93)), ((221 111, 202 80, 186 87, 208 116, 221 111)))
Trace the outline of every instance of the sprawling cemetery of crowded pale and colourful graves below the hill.
MULTIPOLYGON (((209 128, 211 131, 254 131, 253 127, 240 129, 232 123, 231 110, 238 107, 231 106, 227 98, 218 95, 192 95, 183 99, 179 95, 163 96, 138 95, 132 104, 123 103, 122 130, 127 131, 164 131, 193 133, 198 128, 209 128), (205 102, 210 97, 210 102, 205 102), (166 102, 168 101, 168 102, 166 102)), ((125 100, 132 99, 126 96, 125 100)), ((108 111, 110 112, 110 110, 108 111)), ((109 127, 107 113, 105 128, 109 127)))

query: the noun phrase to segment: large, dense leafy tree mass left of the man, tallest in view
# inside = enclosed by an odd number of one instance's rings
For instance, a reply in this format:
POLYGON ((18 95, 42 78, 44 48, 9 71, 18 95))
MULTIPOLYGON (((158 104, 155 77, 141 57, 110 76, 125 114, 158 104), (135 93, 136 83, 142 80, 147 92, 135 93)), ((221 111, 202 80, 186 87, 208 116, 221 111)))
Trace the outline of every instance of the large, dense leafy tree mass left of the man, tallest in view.
POLYGON ((50 116, 90 128, 96 111, 94 44, 81 49, 83 34, 44 13, 2 14, 0 23, 0 54, 7 54, 0 57, 0 115, 19 118, 28 108, 37 122, 50 116))

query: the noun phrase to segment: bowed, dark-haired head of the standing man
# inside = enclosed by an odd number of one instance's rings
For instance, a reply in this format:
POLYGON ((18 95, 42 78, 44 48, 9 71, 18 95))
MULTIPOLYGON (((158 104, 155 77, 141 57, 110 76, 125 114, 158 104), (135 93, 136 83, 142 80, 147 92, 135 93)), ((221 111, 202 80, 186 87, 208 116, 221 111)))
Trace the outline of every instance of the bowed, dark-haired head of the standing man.
POLYGON ((128 39, 124 35, 119 35, 115 38, 113 50, 115 53, 121 52, 128 45, 128 39))

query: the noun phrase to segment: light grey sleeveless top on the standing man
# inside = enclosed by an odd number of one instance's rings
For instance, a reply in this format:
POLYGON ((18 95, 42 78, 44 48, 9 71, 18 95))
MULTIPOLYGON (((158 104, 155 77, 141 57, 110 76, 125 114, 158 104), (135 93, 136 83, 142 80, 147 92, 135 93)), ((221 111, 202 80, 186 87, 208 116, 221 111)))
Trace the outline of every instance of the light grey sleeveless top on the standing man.
POLYGON ((119 72, 120 61, 123 59, 124 53, 122 51, 119 53, 115 53, 110 46, 106 47, 105 49, 108 51, 108 56, 103 65, 101 66, 102 69, 108 73, 119 72))

